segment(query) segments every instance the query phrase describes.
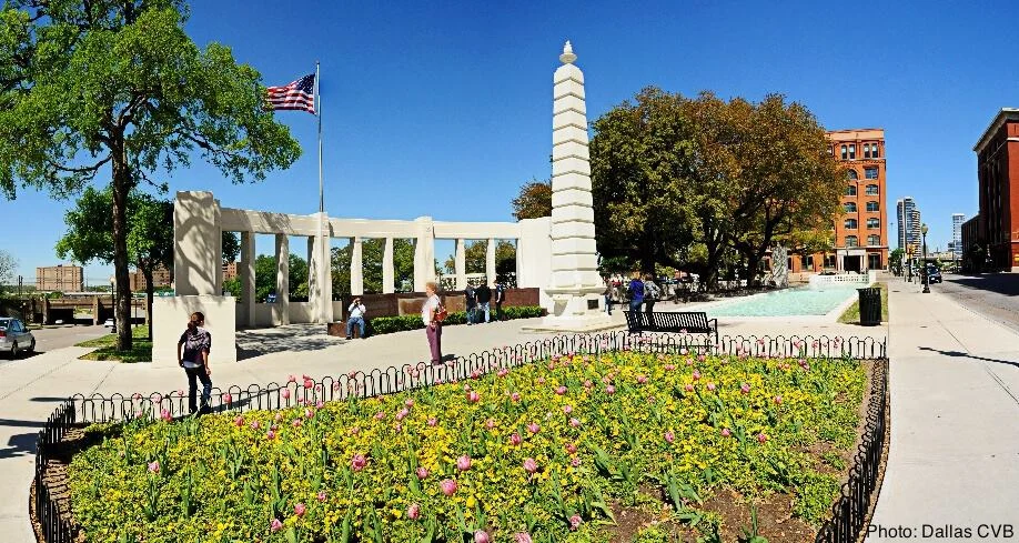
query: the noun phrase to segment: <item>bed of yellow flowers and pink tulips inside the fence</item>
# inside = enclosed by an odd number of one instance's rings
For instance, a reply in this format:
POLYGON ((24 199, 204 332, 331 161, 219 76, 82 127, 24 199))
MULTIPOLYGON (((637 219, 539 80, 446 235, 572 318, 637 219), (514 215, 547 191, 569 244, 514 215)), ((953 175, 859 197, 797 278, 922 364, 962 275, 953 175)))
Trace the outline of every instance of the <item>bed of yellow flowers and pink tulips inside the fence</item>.
POLYGON ((801 541, 838 494, 866 376, 847 360, 624 352, 142 416, 90 429, 102 441, 70 466, 72 510, 89 541, 730 541, 759 504, 763 535, 801 541))

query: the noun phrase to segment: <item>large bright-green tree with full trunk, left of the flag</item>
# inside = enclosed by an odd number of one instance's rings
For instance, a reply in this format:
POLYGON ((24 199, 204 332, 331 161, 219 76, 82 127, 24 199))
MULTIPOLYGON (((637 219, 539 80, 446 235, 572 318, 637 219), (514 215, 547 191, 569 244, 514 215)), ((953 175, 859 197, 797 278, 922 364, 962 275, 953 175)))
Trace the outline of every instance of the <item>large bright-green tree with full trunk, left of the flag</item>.
MULTIPOLYGON (((128 199, 201 157, 234 182, 300 155, 261 76, 184 32, 183 0, 8 0, 0 11, 0 190, 77 193, 110 175, 118 349, 128 328, 128 199)), ((160 185, 162 187, 162 185, 160 185)))

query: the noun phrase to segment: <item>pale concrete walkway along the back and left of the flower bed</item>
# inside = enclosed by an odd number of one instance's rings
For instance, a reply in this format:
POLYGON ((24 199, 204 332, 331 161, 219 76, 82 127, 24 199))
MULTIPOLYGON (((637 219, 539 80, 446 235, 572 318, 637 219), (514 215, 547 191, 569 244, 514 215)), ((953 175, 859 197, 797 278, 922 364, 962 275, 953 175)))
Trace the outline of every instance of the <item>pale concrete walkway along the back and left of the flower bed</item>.
MULTIPOLYGON (((693 305, 693 304, 692 304, 693 305)), ((622 330, 622 311, 613 318, 622 330)), ((466 355, 493 348, 539 341, 547 334, 524 333, 521 329, 537 319, 497 322, 474 326, 447 326, 443 331, 443 353, 466 355)), ((829 335, 871 336, 882 341, 886 326, 861 328, 831 322, 806 322, 803 318, 726 318, 719 323, 722 335, 829 335)), ((216 363, 212 352, 212 382, 220 389, 230 385, 283 383, 290 374, 316 379, 342 375, 352 370, 400 366, 423 361, 428 346, 423 330, 346 341, 332 338, 307 325, 251 331, 239 335, 243 360, 216 363)), ((36 434, 47 416, 63 399, 75 394, 114 392, 175 392, 186 389, 179 368, 154 368, 148 363, 121 364, 77 360, 90 349, 67 348, 0 365, 0 540, 33 541, 28 521, 29 485, 33 474, 36 434)))

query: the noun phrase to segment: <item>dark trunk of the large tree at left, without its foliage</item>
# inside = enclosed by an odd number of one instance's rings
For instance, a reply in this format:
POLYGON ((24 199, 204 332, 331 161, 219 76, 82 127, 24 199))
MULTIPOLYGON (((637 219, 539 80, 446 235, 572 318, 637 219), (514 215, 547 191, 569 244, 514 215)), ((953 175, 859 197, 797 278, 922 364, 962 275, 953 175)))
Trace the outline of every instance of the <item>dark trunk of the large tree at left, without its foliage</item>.
POLYGON ((117 350, 131 349, 131 283, 128 280, 128 193, 131 172, 123 139, 113 155, 113 276, 117 283, 117 350))

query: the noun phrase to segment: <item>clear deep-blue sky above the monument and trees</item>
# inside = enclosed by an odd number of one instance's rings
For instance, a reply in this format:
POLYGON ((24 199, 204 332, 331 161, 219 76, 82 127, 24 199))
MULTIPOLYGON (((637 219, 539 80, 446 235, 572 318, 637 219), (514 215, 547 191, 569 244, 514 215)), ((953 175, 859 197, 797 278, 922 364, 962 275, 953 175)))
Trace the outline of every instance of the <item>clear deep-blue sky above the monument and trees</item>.
MULTIPOLYGON (((751 100, 780 92, 829 129, 884 128, 886 203, 914 197, 931 249, 949 240, 952 212, 977 211, 972 147, 1000 108, 1019 105, 1015 1, 193 3, 194 40, 232 47, 266 84, 322 62, 334 217, 512 220, 519 185, 549 174, 552 73, 566 39, 585 71, 589 120, 655 84, 751 100)), ((167 178, 171 194, 316 211, 315 119, 278 117, 304 148, 291 169, 233 185, 195 164, 167 178)), ((0 200, 2 222, 20 225, 0 248, 21 274, 58 262, 69 203, 33 191, 0 200)), ((85 274, 102 283, 110 268, 85 274)))

